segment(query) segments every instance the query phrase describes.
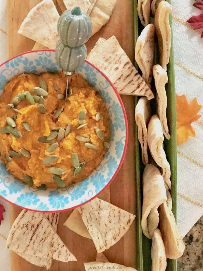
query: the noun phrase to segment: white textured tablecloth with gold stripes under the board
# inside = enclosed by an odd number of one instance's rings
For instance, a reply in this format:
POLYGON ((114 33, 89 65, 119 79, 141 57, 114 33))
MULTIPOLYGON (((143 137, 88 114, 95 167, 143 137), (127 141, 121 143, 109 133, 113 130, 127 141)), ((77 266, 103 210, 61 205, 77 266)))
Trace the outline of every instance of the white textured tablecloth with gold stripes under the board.
MULTIPOLYGON (((130 0, 128 0, 130 1, 130 0)), ((203 104, 203 38, 186 24, 200 14, 193 0, 172 0, 176 93, 185 94, 188 102, 197 97, 203 104)), ((0 1, 0 63, 7 59, 6 0, 0 1)), ((203 107, 199 112, 203 116, 203 107)), ((192 126, 196 137, 178 147, 178 227, 185 235, 203 214, 203 117, 192 126)), ((173 180, 172 180, 173 181, 173 180)), ((9 233, 9 204, 0 199, 6 212, 0 226, 0 266, 10 270, 10 253, 5 249, 9 233)))

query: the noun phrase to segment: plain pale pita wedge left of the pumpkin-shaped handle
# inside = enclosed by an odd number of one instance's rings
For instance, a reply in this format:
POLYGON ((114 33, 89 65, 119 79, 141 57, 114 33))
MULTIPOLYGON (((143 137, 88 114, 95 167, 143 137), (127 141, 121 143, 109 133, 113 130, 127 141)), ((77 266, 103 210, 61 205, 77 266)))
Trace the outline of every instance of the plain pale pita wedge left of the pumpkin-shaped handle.
POLYGON ((30 10, 18 33, 55 49, 59 40, 57 22, 59 14, 52 0, 43 0, 30 10))

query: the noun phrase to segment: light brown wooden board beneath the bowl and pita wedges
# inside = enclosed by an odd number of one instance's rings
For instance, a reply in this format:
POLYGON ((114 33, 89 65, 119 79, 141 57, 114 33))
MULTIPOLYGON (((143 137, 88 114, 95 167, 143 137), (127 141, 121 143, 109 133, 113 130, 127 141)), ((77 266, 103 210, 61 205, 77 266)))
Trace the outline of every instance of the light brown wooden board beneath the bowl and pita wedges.
MULTIPOLYGON (((7 0, 8 8, 8 57, 13 57, 33 48, 35 42, 20 34, 18 29, 32 7, 40 0, 7 0)), ((61 13, 64 9, 61 0, 54 0, 61 13)), ((110 21, 102 27, 87 43, 88 52, 94 46, 99 37, 109 38, 116 36, 129 58, 134 62, 134 35, 133 35, 133 1, 118 0, 110 21)), ((129 124, 129 143, 123 166, 110 185, 110 201, 112 204, 136 214, 136 183, 135 183, 135 118, 134 97, 122 96, 126 108, 129 124)), ((11 225, 21 212, 20 208, 11 206, 11 225)), ((83 263, 96 260, 96 249, 93 242, 83 238, 63 226, 64 221, 71 211, 60 213, 58 234, 67 245, 68 249, 76 256, 77 262, 63 263, 53 261, 52 271, 84 270, 83 263)), ((126 235, 113 247, 104 251, 110 262, 124 264, 136 268, 136 223, 131 225, 126 235)), ((11 252, 11 271, 45 270, 36 267, 14 252, 11 252)))

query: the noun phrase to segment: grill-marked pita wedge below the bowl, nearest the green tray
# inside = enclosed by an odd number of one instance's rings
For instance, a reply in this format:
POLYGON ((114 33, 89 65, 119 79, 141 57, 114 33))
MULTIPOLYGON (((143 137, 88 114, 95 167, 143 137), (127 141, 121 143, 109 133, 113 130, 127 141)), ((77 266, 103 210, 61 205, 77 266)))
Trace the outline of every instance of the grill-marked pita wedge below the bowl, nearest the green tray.
POLYGON ((135 215, 95 198, 78 207, 98 253, 116 244, 129 230, 135 215))

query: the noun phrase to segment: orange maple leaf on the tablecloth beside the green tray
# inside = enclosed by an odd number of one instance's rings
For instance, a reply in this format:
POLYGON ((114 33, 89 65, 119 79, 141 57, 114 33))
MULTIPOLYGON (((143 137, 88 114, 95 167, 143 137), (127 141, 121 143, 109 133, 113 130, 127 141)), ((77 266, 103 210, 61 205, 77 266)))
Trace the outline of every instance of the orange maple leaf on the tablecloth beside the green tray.
POLYGON ((176 94, 176 114, 177 114, 177 145, 186 143, 190 136, 195 136, 195 130, 191 123, 197 121, 201 115, 197 115, 201 105, 198 105, 197 98, 194 98, 189 104, 186 96, 176 94))

